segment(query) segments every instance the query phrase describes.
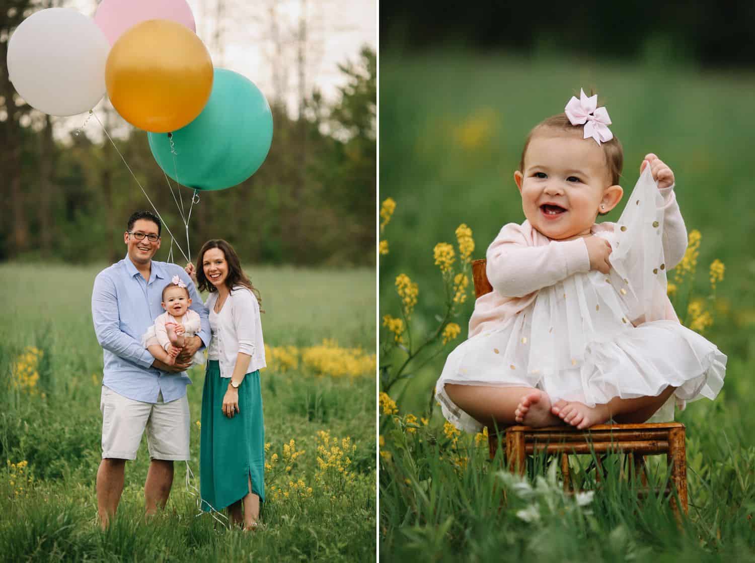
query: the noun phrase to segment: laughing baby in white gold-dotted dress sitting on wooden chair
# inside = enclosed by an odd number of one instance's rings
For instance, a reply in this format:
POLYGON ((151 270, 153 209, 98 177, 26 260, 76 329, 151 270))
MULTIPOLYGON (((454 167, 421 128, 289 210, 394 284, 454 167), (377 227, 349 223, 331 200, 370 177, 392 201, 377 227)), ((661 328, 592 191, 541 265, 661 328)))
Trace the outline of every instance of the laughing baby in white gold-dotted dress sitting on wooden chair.
POLYGON ((666 295, 687 243, 670 168, 646 155, 618 222, 595 222, 624 193, 621 144, 596 99, 572 97, 525 142, 514 181, 527 220, 488 247, 493 291, 436 384, 461 430, 638 423, 723 387, 726 356, 666 295))

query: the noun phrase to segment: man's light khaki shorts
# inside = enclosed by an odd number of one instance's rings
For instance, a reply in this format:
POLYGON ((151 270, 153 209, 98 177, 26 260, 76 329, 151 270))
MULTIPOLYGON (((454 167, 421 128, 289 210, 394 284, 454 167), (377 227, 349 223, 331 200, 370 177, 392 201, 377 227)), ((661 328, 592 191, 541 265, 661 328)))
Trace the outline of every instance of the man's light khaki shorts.
POLYGON ((189 399, 141 402, 102 386, 102 457, 135 460, 146 429, 149 458, 189 460, 189 399))

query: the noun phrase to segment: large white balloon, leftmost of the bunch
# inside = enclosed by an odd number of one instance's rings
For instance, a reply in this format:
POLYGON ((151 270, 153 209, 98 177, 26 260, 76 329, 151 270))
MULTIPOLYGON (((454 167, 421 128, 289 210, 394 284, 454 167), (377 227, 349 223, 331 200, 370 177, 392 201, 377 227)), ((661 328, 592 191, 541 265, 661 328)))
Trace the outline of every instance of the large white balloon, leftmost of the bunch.
POLYGON ((32 108, 76 115, 105 94, 110 44, 91 17, 71 8, 32 14, 8 43, 8 78, 32 108))

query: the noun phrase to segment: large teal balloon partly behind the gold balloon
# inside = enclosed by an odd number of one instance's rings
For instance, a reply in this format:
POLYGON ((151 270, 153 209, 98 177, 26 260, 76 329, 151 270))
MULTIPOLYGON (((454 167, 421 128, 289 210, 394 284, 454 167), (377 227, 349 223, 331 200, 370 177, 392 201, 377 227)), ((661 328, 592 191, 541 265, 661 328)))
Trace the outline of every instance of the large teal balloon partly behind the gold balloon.
POLYGON ((162 170, 189 188, 223 190, 240 184, 262 165, 273 142, 273 113, 248 78, 214 69, 205 109, 172 132, 172 148, 169 134, 148 133, 149 148, 162 170))

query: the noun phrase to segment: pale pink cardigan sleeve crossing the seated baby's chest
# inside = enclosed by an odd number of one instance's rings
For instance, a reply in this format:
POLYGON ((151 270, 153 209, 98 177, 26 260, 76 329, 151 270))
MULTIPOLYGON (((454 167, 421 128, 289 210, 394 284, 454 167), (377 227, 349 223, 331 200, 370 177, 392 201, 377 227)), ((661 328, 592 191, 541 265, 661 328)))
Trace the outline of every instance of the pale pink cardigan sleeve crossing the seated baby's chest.
POLYGON ((504 225, 488 246, 488 280, 501 295, 524 297, 577 272, 590 271, 583 239, 534 246, 534 229, 525 225, 504 225))

